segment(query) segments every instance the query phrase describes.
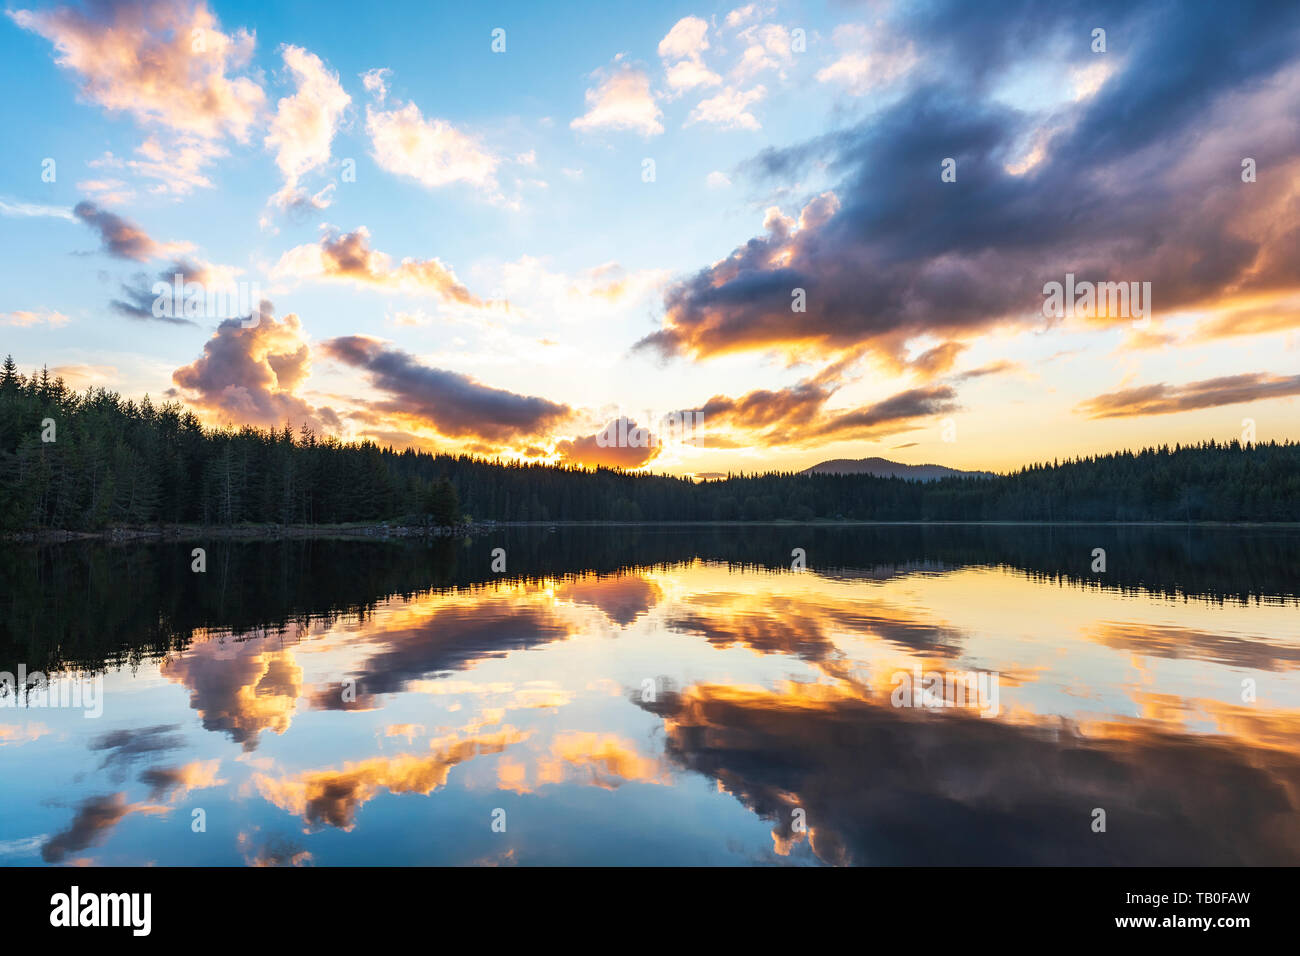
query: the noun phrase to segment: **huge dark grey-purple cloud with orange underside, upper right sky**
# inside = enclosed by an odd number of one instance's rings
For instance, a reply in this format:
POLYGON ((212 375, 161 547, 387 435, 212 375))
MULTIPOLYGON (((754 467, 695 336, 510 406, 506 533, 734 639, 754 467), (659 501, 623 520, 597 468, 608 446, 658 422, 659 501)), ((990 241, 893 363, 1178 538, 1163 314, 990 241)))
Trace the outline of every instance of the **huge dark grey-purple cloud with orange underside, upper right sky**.
POLYGON ((1043 328, 1043 286, 1066 273, 1149 281, 1165 312, 1300 287, 1300 259, 1286 254, 1300 238, 1300 127, 1270 120, 1300 95, 1300 9, 1219 20, 1179 8, 1157 30, 1117 8, 1112 35, 1130 38, 1126 59, 1091 96, 1053 107, 1060 131, 1019 176, 1006 166, 1044 116, 989 88, 1020 51, 1070 49, 1091 21, 1011 16, 980 20, 946 3, 918 12, 918 56, 944 62, 941 77, 855 126, 751 160, 749 172, 786 185, 811 169, 833 177, 833 203, 812 216, 805 207, 797 229, 770 220, 766 234, 673 284, 663 328, 642 347, 705 358, 863 346, 902 364, 913 339, 1043 328), (1258 56, 1230 69, 1218 52, 1227 46, 1258 56), (1268 183, 1243 183, 1225 165, 1242 142, 1270 157, 1268 183), (956 182, 940 179, 944 157, 956 182), (807 294, 797 321, 794 289, 807 294))

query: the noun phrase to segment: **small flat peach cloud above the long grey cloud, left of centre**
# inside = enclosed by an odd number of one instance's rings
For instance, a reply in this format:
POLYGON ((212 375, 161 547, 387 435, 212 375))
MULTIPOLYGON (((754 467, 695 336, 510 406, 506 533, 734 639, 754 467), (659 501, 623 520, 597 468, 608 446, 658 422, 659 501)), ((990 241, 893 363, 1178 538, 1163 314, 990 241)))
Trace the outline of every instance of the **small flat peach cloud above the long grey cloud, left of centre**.
POLYGON ((369 246, 370 232, 358 226, 338 233, 324 226, 318 243, 285 252, 272 269, 272 278, 321 278, 373 285, 390 290, 426 293, 445 303, 481 307, 484 302, 438 259, 403 259, 398 265, 369 246))

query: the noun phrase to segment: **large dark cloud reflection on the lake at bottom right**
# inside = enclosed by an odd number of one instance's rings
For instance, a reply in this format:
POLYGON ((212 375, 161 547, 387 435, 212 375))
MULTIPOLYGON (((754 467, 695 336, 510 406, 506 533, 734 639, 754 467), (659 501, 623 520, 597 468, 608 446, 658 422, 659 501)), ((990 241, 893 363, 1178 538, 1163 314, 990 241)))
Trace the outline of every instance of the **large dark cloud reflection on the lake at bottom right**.
MULTIPOLYGON (((1009 722, 968 709, 890 706, 696 685, 642 705, 664 718, 666 753, 714 779, 840 865, 1295 865, 1300 818, 1288 793, 1300 758, 1244 737, 1132 722, 1087 734, 1057 717, 1009 722), (1190 787, 1190 779, 1197 786, 1190 787), (1105 839, 1089 829, 1106 808, 1105 839)), ((1234 709, 1240 721, 1253 709, 1234 709), (1239 711, 1239 715, 1238 713, 1239 711)), ((1283 730, 1294 734, 1294 722, 1283 730)))

